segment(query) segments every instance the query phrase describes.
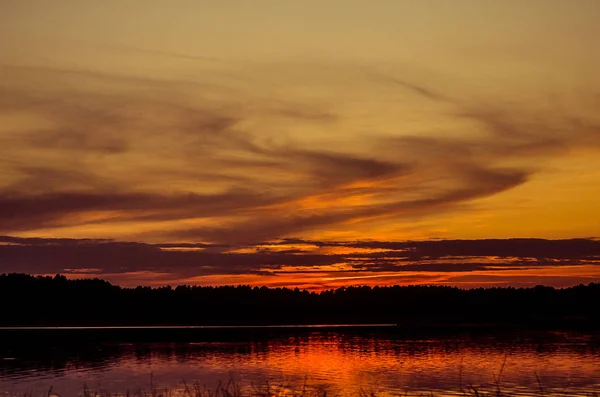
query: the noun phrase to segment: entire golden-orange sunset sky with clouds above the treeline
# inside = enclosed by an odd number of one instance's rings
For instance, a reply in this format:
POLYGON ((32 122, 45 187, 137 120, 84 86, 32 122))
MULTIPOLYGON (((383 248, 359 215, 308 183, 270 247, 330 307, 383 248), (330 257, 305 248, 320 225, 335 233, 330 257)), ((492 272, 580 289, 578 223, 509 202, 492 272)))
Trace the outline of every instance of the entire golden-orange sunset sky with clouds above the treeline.
POLYGON ((596 0, 0 0, 0 272, 600 281, 599 35, 596 0))

